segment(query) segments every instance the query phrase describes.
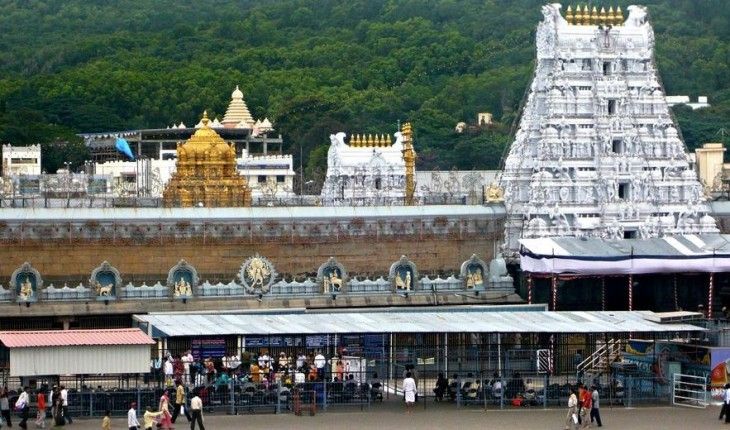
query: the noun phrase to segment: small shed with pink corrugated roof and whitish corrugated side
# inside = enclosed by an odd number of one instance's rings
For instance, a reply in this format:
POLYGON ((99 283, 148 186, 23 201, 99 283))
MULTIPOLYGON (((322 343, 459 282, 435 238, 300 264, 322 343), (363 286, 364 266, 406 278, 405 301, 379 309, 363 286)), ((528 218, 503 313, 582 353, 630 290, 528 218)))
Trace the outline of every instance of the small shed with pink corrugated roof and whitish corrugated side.
POLYGON ((155 341, 139 329, 0 332, 10 376, 145 373, 155 341))

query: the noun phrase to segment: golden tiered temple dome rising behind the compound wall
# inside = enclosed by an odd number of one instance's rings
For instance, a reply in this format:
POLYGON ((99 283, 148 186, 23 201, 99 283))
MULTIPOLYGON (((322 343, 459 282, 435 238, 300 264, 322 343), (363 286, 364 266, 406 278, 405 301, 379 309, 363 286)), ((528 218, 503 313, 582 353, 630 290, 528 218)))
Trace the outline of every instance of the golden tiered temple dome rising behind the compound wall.
POLYGON ((162 194, 165 207, 251 206, 251 190, 236 170, 236 148, 203 126, 185 143, 177 144, 176 171, 162 194))

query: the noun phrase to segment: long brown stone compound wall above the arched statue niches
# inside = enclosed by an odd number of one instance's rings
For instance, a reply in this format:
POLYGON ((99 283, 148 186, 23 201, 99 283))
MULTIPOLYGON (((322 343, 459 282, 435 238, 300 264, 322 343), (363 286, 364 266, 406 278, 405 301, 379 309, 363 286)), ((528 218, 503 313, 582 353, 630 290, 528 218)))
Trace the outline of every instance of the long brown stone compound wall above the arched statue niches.
POLYGON ((489 261, 504 209, 494 206, 0 210, 0 281, 24 262, 46 282, 85 282, 102 261, 126 281, 157 282, 181 259, 201 281, 228 282, 258 254, 284 276, 336 257, 353 275, 387 274, 401 255, 423 274, 489 261))

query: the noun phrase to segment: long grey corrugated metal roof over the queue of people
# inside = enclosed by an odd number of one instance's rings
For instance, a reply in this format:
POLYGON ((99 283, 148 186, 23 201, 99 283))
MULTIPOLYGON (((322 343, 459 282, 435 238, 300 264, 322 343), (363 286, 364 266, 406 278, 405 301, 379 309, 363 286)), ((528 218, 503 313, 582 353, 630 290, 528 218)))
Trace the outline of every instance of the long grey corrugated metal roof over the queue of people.
POLYGON ((628 333, 702 331, 654 312, 420 311, 135 315, 169 337, 346 333, 628 333))

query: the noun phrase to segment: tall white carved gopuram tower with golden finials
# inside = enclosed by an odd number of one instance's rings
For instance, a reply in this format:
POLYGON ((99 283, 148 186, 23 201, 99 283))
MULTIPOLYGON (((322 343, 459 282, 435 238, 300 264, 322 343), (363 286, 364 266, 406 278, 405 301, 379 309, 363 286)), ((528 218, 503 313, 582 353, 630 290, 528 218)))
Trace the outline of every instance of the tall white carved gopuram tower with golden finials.
POLYGON ((543 6, 537 66, 500 184, 520 238, 717 233, 665 100, 645 8, 543 6))

